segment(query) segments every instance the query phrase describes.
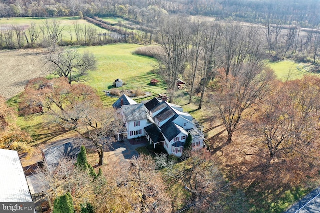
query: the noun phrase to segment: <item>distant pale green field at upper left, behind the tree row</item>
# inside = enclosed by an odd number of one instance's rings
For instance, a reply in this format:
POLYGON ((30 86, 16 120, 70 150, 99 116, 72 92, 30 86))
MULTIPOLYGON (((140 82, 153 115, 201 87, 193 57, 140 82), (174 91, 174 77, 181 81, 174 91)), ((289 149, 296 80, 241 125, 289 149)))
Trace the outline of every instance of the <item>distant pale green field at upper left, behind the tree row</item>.
MULTIPOLYGON (((62 31, 62 40, 64 41, 70 41, 71 36, 69 31, 71 30, 72 34, 72 40, 75 41, 75 31, 73 24, 78 23, 82 26, 90 25, 91 27, 95 28, 97 30, 97 33, 109 33, 108 30, 102 29, 98 26, 95 26, 94 24, 91 24, 87 22, 86 20, 79 19, 79 17, 59 17, 59 18, 54 18, 56 20, 60 21, 61 27, 64 27, 62 31)), ((44 26, 44 22, 46 20, 52 20, 52 18, 32 18, 32 17, 23 17, 23 18, 2 18, 0 21, 0 28, 6 29, 6 27, 11 27, 11 25, 18 25, 18 26, 25 26, 27 28, 28 26, 31 25, 31 23, 35 23, 38 30, 40 30, 40 27, 44 26)), ((42 39, 42 34, 40 34, 40 39, 42 39)))

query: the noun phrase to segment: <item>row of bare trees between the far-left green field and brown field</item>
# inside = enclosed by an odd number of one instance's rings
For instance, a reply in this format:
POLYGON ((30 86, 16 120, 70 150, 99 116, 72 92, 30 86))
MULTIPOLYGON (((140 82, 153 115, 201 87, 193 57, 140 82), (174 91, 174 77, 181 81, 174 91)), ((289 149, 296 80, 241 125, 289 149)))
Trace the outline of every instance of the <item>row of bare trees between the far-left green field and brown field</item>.
POLYGON ((45 19, 41 24, 31 22, 27 27, 18 24, 5 25, 0 30, 0 49, 102 45, 131 39, 115 32, 106 33, 92 24, 82 24, 76 20, 66 27, 60 20, 45 19), (69 38, 65 38, 65 35, 69 38))

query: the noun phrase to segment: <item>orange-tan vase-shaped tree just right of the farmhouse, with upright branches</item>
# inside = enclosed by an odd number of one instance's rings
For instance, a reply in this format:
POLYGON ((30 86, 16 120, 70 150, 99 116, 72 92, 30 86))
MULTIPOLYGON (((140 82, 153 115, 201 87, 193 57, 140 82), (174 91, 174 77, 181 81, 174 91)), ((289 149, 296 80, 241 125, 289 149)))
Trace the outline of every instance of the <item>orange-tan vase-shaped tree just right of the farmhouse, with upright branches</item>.
POLYGON ((273 79, 272 70, 261 70, 255 66, 242 66, 237 77, 218 75, 217 88, 210 100, 219 110, 228 133, 227 142, 232 141, 232 135, 242 120, 243 112, 270 92, 273 79))

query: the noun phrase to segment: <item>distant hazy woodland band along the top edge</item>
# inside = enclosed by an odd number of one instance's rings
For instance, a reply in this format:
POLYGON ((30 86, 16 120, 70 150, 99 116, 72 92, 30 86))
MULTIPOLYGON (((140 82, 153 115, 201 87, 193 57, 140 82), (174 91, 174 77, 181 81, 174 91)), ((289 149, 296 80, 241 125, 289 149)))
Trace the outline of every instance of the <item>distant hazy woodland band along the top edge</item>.
POLYGON ((300 26, 315 27, 319 22, 317 0, 9 0, 0 1, 0 17, 123 16, 143 20, 145 13, 158 7, 169 13, 216 16, 228 20, 262 22, 269 14, 300 26))

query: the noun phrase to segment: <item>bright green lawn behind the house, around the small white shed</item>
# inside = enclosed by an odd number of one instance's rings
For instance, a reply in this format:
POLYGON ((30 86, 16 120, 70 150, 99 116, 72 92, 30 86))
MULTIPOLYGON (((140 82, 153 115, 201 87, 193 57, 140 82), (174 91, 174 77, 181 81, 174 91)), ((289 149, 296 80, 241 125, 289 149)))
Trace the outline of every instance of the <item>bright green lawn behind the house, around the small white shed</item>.
POLYGON ((113 87, 113 81, 120 78, 125 85, 119 90, 141 89, 152 94, 165 92, 166 83, 157 72, 153 71, 156 61, 152 58, 132 54, 141 45, 111 44, 106 46, 70 47, 79 52, 92 52, 98 61, 98 68, 86 76, 87 83, 96 89, 105 106, 110 106, 117 98, 105 95, 104 91, 113 87), (158 85, 150 85, 150 80, 156 78, 158 85))

